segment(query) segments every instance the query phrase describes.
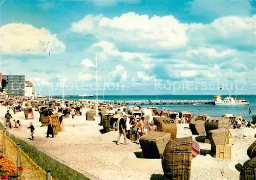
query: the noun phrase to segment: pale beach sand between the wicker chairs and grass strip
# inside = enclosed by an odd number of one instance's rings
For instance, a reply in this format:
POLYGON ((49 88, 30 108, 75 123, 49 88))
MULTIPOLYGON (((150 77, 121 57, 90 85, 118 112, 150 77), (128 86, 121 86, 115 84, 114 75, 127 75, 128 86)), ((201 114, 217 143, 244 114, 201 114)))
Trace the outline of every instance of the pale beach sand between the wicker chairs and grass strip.
MULTIPOLYGON (((6 111, 6 107, 0 107, 2 123, 6 111)), ((13 115, 23 127, 9 131, 83 174, 88 172, 103 180, 164 179, 160 159, 137 158, 135 153, 140 154, 141 148, 132 142, 129 145, 116 145, 118 132, 101 134, 99 130, 102 126, 96 121, 86 121, 85 112, 86 109, 83 109, 82 116, 64 119, 65 132, 58 133, 54 138, 46 138, 47 127, 40 127, 38 112, 34 112, 34 120, 25 120, 24 112, 13 115), (34 141, 28 139, 30 131, 26 126, 29 126, 29 122, 35 126, 34 141)), ((178 124, 178 138, 192 136, 187 127, 188 124, 178 124)), ((231 160, 198 155, 192 160, 191 179, 239 179, 239 172, 234 165, 243 164, 249 159, 246 150, 255 140, 255 133, 253 128, 231 130, 231 160)), ((199 144, 201 149, 210 149, 209 144, 199 144)))

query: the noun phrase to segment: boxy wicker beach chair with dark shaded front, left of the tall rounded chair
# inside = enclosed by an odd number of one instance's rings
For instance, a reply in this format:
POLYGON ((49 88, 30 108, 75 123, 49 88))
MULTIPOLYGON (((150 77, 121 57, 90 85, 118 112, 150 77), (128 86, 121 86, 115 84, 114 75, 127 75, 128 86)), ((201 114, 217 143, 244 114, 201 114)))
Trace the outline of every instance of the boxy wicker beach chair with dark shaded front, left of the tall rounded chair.
POLYGON ((166 144, 170 141, 169 133, 152 132, 140 138, 140 146, 145 159, 160 159, 166 144))

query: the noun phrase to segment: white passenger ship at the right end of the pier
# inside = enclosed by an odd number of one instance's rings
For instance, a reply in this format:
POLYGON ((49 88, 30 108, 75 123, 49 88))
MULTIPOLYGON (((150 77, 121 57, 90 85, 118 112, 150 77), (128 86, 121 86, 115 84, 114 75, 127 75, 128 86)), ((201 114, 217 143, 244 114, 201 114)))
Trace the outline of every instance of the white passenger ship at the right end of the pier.
POLYGON ((250 102, 247 100, 244 100, 243 98, 233 98, 231 97, 231 94, 229 93, 229 96, 222 99, 221 95, 215 95, 214 96, 214 102, 215 105, 249 105, 250 102))

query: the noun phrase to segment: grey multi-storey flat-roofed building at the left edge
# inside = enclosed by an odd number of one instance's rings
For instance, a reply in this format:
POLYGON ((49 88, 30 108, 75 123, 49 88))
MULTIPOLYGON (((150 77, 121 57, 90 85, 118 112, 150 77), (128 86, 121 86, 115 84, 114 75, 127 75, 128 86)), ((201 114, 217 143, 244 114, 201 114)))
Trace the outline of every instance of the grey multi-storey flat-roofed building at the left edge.
POLYGON ((25 95, 25 75, 3 75, 3 79, 8 83, 5 92, 9 96, 25 95))

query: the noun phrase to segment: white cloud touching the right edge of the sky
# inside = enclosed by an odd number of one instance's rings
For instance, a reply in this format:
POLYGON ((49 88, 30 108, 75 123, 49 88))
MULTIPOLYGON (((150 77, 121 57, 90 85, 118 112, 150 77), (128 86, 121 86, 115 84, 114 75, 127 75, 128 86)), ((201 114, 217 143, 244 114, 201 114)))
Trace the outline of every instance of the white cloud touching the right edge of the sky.
POLYGON ((210 24, 192 24, 187 31, 190 45, 211 44, 239 49, 255 49, 255 19, 226 16, 210 24))

